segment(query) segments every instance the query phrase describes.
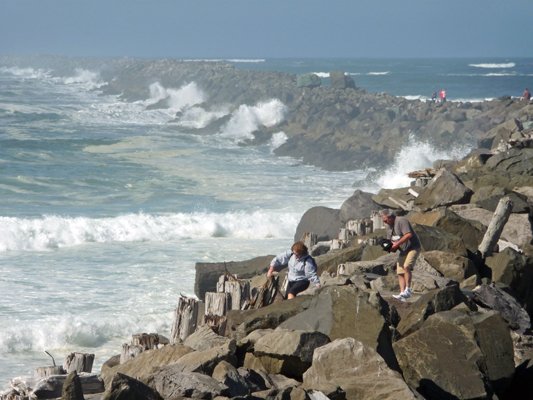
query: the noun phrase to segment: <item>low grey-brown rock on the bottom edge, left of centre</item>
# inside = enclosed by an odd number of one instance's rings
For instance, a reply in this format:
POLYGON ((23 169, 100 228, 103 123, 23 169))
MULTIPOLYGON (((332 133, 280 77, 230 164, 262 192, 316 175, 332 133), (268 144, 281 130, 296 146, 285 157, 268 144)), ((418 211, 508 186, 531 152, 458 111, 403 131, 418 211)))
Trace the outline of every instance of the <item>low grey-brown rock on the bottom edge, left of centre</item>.
POLYGON ((177 364, 161 368, 152 379, 155 389, 164 399, 192 397, 211 400, 230 394, 228 387, 216 379, 196 372, 180 371, 177 364))

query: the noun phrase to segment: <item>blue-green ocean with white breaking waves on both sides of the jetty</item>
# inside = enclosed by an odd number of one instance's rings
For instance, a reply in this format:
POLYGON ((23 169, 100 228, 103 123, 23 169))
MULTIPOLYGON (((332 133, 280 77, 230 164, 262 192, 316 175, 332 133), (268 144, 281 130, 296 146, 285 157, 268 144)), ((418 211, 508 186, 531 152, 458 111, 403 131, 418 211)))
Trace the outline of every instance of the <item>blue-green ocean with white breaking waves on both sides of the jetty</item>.
MULTIPOLYGON (((533 59, 226 60, 239 69, 342 70, 358 87, 427 100, 521 96, 533 59)), ((0 65, 0 390, 71 352, 96 355, 93 372, 132 334, 170 336, 180 294, 194 295, 196 262, 241 261, 293 243, 302 214, 340 208, 355 189, 409 184, 407 172, 462 157, 410 143, 377 185, 369 171, 328 172, 276 157, 286 136, 242 146, 259 124, 287 115, 279 99, 189 112, 206 99, 194 82, 154 83, 152 97, 104 96, 98 71, 57 77, 0 65), (147 110, 167 97, 168 108, 147 110), (169 123, 182 112, 183 125, 169 123), (231 113, 216 135, 186 128, 231 113), (181 129, 181 130, 180 130, 181 129), (406 162, 406 160, 408 160, 406 162)))

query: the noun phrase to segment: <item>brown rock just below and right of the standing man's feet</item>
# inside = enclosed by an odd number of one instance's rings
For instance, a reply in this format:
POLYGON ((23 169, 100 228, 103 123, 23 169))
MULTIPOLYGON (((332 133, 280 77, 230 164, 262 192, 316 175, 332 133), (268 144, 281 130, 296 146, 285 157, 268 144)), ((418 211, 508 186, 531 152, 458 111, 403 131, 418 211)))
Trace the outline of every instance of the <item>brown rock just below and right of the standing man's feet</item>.
POLYGON ((398 331, 404 337, 411 335, 430 315, 451 310, 461 303, 468 305, 468 299, 457 285, 431 290, 411 305, 398 324, 398 331))

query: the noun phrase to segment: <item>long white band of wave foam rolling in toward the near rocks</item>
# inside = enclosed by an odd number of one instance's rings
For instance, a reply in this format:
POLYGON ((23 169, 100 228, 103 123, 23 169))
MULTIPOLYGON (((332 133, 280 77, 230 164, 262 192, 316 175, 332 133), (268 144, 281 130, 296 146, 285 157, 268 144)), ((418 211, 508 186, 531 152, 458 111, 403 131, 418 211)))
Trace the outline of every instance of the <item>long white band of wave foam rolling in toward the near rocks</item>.
POLYGON ((290 237, 298 216, 268 211, 216 214, 125 214, 114 218, 0 217, 0 252, 43 251, 84 243, 172 241, 184 238, 290 237))

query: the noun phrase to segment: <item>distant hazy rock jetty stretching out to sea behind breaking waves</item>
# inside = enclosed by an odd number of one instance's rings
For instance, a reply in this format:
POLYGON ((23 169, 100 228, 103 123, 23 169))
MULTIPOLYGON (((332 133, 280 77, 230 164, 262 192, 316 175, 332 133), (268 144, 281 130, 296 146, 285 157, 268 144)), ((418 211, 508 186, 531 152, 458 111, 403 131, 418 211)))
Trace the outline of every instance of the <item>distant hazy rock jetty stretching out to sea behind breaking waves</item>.
MULTIPOLYGON (((530 101, 510 96, 480 103, 409 101, 368 93, 342 71, 331 71, 331 87, 324 87, 313 74, 242 71, 209 61, 2 56, 0 66, 43 68, 60 76, 74 75, 80 68, 97 71, 107 82, 101 88, 105 94, 128 101, 150 98, 149 87, 155 82, 173 89, 194 82, 207 99, 193 107, 203 111, 221 106, 235 110, 278 99, 286 106, 285 118, 273 126, 259 126, 253 132, 256 139, 248 143, 264 143, 273 133, 283 131, 288 140, 276 154, 298 157, 327 170, 384 166, 405 143, 412 142, 442 149, 479 145, 490 150, 502 141, 521 140, 533 126, 530 101)), ((163 99, 154 106, 168 104, 163 99)), ((177 115, 172 123, 179 121, 177 115)), ((227 116, 189 129, 213 134, 226 122, 227 116)))

